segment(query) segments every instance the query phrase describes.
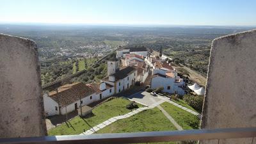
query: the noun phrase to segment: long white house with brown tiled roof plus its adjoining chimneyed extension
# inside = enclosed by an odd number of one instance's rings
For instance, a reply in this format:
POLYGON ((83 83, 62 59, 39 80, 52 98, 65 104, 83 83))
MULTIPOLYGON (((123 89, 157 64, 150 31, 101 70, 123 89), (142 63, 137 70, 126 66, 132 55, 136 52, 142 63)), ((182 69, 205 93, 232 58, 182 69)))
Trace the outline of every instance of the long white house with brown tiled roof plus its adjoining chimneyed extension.
POLYGON ((46 116, 65 115, 80 106, 88 105, 114 94, 114 86, 106 83, 72 83, 60 86, 57 90, 44 94, 46 116), (81 99, 81 101, 80 101, 81 99))

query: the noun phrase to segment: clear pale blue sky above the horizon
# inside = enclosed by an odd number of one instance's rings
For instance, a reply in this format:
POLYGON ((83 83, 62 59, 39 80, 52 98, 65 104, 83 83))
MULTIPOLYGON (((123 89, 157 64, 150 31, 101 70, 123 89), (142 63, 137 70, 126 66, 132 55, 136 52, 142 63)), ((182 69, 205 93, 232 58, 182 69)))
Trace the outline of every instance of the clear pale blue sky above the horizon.
POLYGON ((256 0, 0 0, 0 22, 256 26, 256 0))

